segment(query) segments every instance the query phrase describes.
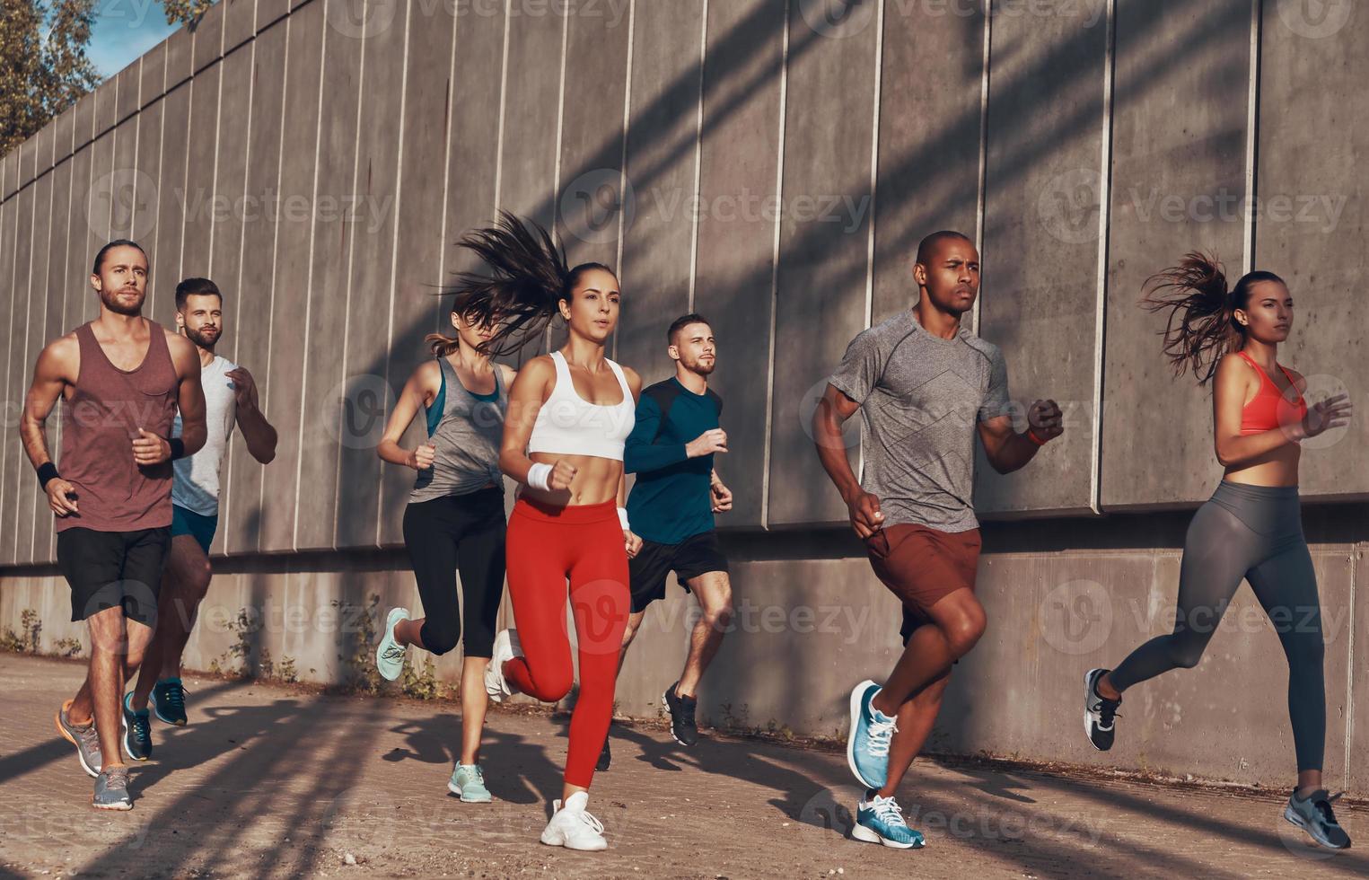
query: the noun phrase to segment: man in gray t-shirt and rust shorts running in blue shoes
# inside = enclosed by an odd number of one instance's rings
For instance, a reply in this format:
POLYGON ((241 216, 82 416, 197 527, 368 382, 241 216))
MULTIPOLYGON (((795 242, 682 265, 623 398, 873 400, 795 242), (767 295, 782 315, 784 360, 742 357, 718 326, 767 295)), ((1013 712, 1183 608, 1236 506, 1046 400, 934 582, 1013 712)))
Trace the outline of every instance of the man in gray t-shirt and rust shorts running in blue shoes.
POLYGON ((1008 365, 997 345, 961 327, 979 294, 979 252, 960 233, 917 249, 913 308, 852 341, 813 415, 823 467, 850 509, 871 567, 904 605, 904 656, 883 687, 852 691, 846 747, 867 787, 860 840, 921 846, 894 802, 941 709, 950 668, 984 632, 975 598, 975 435, 1001 474, 1031 461, 1062 431, 1054 401, 1036 401, 1031 428, 1013 430, 1008 365), (864 467, 852 472, 842 423, 861 412, 864 467))

